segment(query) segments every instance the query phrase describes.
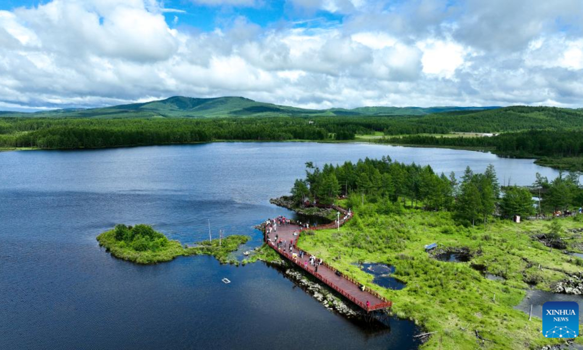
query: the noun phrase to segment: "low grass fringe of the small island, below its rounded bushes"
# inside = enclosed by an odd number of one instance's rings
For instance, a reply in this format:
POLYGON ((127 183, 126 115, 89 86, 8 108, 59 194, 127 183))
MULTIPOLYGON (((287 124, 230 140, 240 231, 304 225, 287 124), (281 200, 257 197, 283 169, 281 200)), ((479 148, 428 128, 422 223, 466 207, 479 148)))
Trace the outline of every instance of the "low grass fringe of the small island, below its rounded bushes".
POLYGON ((208 254, 213 255, 221 263, 237 263, 237 260, 230 256, 231 252, 249 240, 248 236, 227 236, 219 246, 219 240, 202 241, 196 247, 183 247, 177 240, 168 240, 166 246, 156 250, 137 251, 131 246, 115 240, 115 230, 109 230, 97 236, 99 245, 110 251, 114 257, 136 262, 137 264, 156 264, 173 260, 178 256, 208 254))

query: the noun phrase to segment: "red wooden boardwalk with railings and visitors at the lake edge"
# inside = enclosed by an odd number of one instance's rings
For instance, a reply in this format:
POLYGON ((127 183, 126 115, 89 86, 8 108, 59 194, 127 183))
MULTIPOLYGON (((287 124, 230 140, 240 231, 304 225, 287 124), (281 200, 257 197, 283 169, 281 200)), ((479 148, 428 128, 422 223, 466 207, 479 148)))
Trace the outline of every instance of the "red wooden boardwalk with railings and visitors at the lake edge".
MULTIPOLYGON (((342 208, 335 207, 335 209, 339 209, 341 215, 344 218, 340 218, 340 225, 342 225, 345 220, 349 220, 351 215, 350 213, 346 212, 342 208)), ((357 304, 365 311, 374 311, 380 309, 386 309, 387 307, 391 307, 392 303, 389 300, 386 300, 384 297, 378 295, 373 290, 365 288, 362 290, 360 285, 344 275, 336 275, 336 270, 330 267, 325 262, 322 262, 321 265, 312 266, 310 264, 310 254, 304 252, 304 256, 301 257, 300 249, 297 248, 296 243, 297 239, 301 233, 301 227, 298 225, 294 225, 293 223, 287 224, 283 223, 282 225, 274 225, 275 219, 271 220, 271 224, 266 226, 266 234, 265 239, 266 243, 269 244, 270 247, 275 249, 280 255, 287 258, 287 260, 293 262, 298 267, 303 268, 305 271, 314 275, 320 281, 326 283, 326 285, 330 286, 332 289, 335 289, 337 292, 345 296, 347 299, 352 301, 354 304, 357 304), (275 230, 274 227, 275 226, 275 230), (271 233, 269 233, 269 229, 271 228, 271 233), (277 242, 275 241, 275 236, 278 236, 278 241, 281 241, 280 247, 278 248, 277 242), (290 250, 290 243, 293 241, 293 246, 290 250), (297 257, 296 255, 297 254, 297 257)), ((324 228, 333 228, 336 227, 336 223, 331 223, 328 225, 322 225, 317 227, 317 229, 324 229, 324 228)), ((311 228, 313 229, 313 227, 311 228)), ((317 257, 317 261, 319 258, 317 257)))

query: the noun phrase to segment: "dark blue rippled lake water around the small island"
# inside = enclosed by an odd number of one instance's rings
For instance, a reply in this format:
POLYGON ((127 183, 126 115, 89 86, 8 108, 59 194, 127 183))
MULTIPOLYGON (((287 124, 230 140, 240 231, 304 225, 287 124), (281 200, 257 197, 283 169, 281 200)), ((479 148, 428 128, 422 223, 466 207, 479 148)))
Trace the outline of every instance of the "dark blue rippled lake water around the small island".
POLYGON ((410 349, 414 325, 371 332, 258 262, 209 257, 138 266, 100 248, 115 223, 149 223, 192 244, 248 234, 304 163, 390 155, 459 173, 493 163, 502 180, 531 183, 531 160, 463 150, 364 144, 210 143, 75 151, 0 152, 1 349, 410 349), (222 278, 232 283, 225 285, 222 278))

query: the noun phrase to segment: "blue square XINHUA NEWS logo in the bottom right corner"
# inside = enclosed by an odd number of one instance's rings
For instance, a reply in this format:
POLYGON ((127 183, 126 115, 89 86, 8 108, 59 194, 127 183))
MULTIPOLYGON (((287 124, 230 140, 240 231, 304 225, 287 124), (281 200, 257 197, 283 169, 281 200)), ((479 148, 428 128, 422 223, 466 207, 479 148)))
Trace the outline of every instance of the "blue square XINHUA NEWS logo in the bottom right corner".
POLYGON ((579 304, 546 302, 543 304, 543 331, 546 338, 575 338, 579 335, 579 304))

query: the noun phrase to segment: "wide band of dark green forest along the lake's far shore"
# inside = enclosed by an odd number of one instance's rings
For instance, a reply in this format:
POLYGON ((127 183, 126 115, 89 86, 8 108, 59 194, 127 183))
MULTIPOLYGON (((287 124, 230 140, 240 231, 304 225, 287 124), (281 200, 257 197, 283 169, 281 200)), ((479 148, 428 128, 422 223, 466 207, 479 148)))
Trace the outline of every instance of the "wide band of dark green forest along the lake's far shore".
POLYGON ((0 149, 104 148, 212 141, 345 142, 373 134, 384 137, 368 141, 492 150, 498 155, 536 157, 540 164, 560 169, 583 169, 583 111, 567 108, 515 106, 427 115, 0 117, 0 149), (451 132, 499 134, 464 137, 451 132))

